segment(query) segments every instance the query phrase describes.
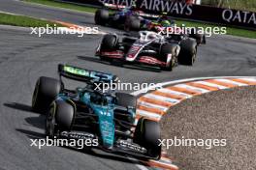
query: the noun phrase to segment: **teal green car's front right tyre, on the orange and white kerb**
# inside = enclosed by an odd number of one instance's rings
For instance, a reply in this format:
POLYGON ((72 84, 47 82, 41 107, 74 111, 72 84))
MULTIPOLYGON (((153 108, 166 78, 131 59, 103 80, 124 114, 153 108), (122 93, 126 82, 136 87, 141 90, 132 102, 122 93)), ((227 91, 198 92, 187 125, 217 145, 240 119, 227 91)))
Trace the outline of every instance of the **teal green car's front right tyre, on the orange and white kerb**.
POLYGON ((157 122, 141 118, 134 133, 134 143, 137 143, 147 150, 147 155, 154 159, 161 157, 160 125, 157 122))

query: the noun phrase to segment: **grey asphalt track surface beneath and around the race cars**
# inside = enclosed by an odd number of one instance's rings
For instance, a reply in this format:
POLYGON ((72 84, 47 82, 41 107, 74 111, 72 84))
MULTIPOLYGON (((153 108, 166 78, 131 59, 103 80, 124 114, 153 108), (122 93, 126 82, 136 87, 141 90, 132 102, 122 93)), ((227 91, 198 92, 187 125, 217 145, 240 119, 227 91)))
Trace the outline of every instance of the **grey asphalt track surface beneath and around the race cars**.
MULTIPOLYGON (((0 0, 0 11, 93 25, 92 14, 75 13, 12 0, 0 0)), ((102 31, 114 29, 101 27, 102 31)), ((32 92, 41 75, 57 77, 57 64, 117 74, 122 82, 164 82, 201 76, 255 75, 253 40, 215 37, 199 48, 194 67, 175 71, 111 66, 94 57, 101 36, 30 35, 29 30, 0 28, 0 169, 138 169, 131 161, 101 151, 30 147, 30 138, 43 138, 45 117, 30 111, 32 92)), ((120 33, 120 31, 118 31, 120 33)))

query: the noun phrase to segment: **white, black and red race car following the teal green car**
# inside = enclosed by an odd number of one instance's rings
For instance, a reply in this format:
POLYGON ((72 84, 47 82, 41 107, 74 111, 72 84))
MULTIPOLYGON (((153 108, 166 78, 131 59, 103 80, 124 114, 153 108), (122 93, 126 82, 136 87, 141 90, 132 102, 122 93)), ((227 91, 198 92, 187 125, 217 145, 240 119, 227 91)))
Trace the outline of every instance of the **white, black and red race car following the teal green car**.
POLYGON ((197 42, 183 35, 162 36, 151 31, 119 38, 105 35, 96 49, 101 60, 113 59, 126 64, 144 64, 172 71, 177 64, 192 66, 197 55, 197 42))

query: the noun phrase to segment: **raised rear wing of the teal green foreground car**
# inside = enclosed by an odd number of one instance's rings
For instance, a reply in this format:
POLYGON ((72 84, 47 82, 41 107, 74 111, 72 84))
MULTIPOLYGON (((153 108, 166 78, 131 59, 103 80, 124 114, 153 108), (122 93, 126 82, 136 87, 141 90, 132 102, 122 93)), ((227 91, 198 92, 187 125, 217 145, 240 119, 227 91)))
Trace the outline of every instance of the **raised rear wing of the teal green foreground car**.
POLYGON ((82 82, 89 82, 91 80, 94 81, 103 81, 106 83, 111 83, 116 80, 117 76, 113 75, 112 73, 105 73, 100 71, 89 71, 85 69, 81 69, 74 66, 69 65, 58 65, 58 73, 63 77, 82 81, 82 82))

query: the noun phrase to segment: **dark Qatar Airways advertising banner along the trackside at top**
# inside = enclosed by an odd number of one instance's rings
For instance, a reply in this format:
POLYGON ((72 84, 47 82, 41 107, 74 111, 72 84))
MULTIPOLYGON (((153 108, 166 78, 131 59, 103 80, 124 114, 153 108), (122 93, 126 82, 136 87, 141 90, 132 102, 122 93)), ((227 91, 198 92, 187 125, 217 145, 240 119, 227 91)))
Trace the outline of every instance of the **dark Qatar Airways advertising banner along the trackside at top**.
POLYGON ((256 13, 209 6, 193 5, 183 0, 69 0, 84 4, 114 7, 129 7, 136 4, 139 10, 148 14, 168 13, 170 16, 193 20, 222 23, 256 29, 256 13))

